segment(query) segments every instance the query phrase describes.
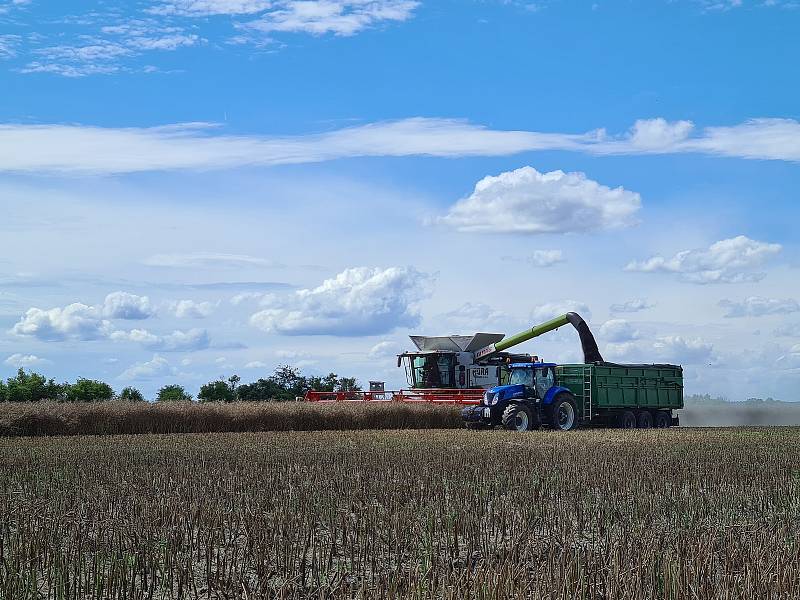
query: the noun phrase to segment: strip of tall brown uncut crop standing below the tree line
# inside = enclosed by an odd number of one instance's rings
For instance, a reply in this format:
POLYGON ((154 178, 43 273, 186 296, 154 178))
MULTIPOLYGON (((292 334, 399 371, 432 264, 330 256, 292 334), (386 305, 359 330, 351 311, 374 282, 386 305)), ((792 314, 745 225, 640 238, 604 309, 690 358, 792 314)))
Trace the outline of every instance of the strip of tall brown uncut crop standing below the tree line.
POLYGON ((0 436, 463 427, 460 409, 381 402, 6 402, 0 436))

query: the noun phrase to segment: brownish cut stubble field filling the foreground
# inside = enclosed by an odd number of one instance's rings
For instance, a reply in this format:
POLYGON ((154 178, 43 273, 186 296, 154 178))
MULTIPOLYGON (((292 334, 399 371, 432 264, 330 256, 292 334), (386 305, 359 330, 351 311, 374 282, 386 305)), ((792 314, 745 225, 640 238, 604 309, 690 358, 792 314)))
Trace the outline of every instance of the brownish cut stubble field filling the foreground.
POLYGON ((0 440, 0 598, 797 598, 794 428, 0 440))

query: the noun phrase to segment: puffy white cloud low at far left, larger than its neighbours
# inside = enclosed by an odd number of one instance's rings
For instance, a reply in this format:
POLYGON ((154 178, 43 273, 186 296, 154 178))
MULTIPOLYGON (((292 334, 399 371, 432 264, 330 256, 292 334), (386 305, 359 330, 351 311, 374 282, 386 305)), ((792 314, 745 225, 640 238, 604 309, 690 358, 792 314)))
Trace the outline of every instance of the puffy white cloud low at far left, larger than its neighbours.
POLYGON ((76 302, 49 310, 29 308, 11 332, 44 341, 97 340, 107 337, 110 327, 95 307, 76 302))

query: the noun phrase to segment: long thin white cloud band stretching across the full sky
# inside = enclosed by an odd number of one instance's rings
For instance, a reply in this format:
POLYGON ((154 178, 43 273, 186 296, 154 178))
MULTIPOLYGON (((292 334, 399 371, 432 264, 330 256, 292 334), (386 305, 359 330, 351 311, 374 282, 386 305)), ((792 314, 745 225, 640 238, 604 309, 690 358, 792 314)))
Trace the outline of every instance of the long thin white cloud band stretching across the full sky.
MULTIPOLYGON (((88 64, 98 72, 108 68, 88 64)), ((644 127, 640 122, 639 128, 644 127)), ((0 125, 0 170, 130 173, 300 164, 359 156, 506 156, 555 149, 592 154, 653 152, 636 146, 630 136, 609 138, 602 130, 584 134, 502 131, 455 119, 410 118, 284 137, 211 135, 212 128, 204 123, 150 128, 0 125)), ((712 127, 660 152, 800 161, 800 122, 755 119, 712 127)))

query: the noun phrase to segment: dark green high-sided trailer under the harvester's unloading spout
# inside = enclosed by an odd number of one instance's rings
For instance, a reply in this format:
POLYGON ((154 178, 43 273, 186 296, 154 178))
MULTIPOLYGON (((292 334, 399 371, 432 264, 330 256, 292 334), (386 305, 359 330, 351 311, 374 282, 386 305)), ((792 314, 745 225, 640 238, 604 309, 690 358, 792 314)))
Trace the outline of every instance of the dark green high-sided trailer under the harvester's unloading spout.
POLYGON ((572 392, 583 425, 678 424, 672 411, 683 408, 679 365, 567 364, 555 371, 557 384, 572 392))

